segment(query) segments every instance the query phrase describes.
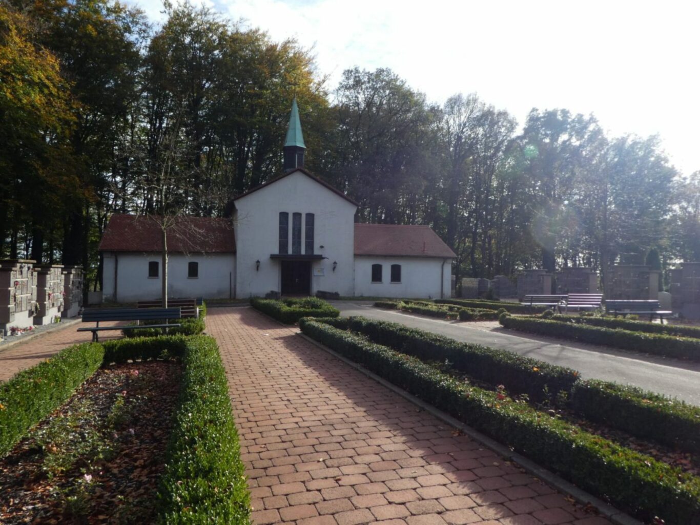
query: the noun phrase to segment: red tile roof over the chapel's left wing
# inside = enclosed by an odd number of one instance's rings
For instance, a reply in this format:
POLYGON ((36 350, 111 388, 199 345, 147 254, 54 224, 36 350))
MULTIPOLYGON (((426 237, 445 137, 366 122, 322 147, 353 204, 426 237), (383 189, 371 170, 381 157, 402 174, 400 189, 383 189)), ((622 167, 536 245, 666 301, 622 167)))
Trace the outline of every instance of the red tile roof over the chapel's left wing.
MULTIPOLYGON (((113 215, 100 251, 162 251, 160 218, 113 215)), ((233 227, 223 218, 175 217, 168 229, 168 251, 181 253, 236 253, 233 227)))

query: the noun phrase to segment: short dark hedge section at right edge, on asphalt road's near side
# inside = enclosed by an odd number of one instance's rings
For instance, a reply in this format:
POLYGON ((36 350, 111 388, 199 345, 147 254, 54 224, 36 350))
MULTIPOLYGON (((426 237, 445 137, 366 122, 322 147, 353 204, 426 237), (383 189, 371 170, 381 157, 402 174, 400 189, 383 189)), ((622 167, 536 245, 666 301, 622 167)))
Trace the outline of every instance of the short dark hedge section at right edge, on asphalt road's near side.
POLYGON ((591 379, 578 381, 571 407, 590 421, 700 453, 700 407, 664 395, 591 379))

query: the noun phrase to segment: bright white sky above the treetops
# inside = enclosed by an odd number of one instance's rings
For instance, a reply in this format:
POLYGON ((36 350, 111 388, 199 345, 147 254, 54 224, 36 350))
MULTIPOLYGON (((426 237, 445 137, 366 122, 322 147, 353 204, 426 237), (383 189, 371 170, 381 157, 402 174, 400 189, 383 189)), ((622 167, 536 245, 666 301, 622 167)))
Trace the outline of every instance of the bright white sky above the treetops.
MULTIPOLYGON (((195 4, 197 0, 193 0, 195 4)), ((127 0, 162 20, 160 0, 127 0)), ((700 169, 700 3, 695 0, 207 0, 276 41, 313 46, 330 89, 344 69, 391 68, 433 102, 477 92, 528 111, 594 113, 612 135, 659 134, 700 169)))

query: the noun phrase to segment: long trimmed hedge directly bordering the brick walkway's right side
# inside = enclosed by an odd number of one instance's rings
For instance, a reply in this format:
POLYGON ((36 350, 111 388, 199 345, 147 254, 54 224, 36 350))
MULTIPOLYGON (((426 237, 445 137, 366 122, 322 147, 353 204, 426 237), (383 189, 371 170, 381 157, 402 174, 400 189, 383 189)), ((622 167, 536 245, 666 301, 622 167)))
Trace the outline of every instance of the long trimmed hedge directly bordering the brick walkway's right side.
POLYGON ((700 524, 698 477, 591 435, 526 403, 468 386, 418 358, 349 332, 310 319, 304 319, 301 328, 346 358, 642 519, 658 516, 668 525, 700 524))

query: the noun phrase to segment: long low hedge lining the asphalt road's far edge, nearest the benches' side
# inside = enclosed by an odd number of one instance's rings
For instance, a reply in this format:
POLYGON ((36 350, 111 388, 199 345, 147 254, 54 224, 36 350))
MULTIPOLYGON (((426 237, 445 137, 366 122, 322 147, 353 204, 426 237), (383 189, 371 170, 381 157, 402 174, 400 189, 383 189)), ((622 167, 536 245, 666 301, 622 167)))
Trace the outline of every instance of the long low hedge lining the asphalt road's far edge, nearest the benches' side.
POLYGON ((498 322, 505 328, 513 330, 551 335, 563 339, 577 339, 592 344, 615 346, 624 350, 655 353, 659 356, 700 361, 700 340, 689 337, 615 330, 532 317, 500 316, 498 322))

